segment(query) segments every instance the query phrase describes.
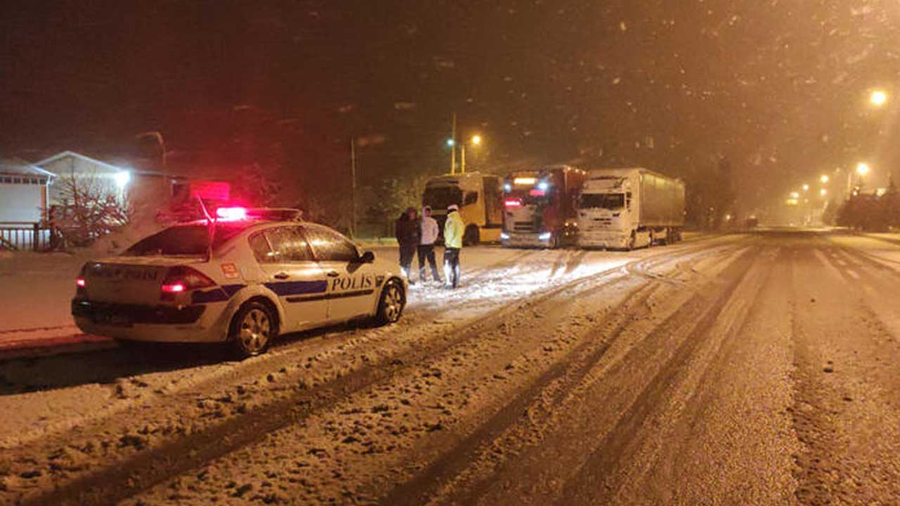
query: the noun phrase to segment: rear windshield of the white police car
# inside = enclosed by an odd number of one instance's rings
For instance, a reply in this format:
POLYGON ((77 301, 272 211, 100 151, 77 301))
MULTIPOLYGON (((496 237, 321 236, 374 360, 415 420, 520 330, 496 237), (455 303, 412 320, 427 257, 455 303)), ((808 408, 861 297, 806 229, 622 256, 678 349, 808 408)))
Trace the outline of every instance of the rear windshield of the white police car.
MULTIPOLYGON (((247 229, 250 224, 248 222, 217 224, 212 248, 219 248, 242 230, 247 229)), ((209 227, 205 224, 178 225, 140 240, 126 249, 122 256, 202 256, 207 251, 209 234, 209 227)))

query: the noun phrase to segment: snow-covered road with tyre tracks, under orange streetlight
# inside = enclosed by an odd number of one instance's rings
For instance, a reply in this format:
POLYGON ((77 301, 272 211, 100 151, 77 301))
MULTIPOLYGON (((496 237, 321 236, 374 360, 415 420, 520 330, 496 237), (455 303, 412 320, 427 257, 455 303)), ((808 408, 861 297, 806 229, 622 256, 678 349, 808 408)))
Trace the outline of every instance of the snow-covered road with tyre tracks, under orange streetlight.
POLYGON ((390 328, 0 363, 0 503, 900 502, 895 242, 465 254, 390 328))

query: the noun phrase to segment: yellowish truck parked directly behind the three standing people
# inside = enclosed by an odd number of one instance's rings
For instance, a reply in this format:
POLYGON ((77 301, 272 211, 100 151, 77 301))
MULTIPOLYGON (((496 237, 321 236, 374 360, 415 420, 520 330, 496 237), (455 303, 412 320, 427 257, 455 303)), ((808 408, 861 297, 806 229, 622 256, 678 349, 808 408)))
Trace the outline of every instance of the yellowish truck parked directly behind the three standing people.
POLYGON ((464 244, 500 240, 503 194, 499 176, 466 172, 436 176, 426 182, 422 205, 431 206, 431 214, 439 226, 440 240, 444 238, 447 206, 451 203, 459 206, 460 218, 465 223, 464 244))

